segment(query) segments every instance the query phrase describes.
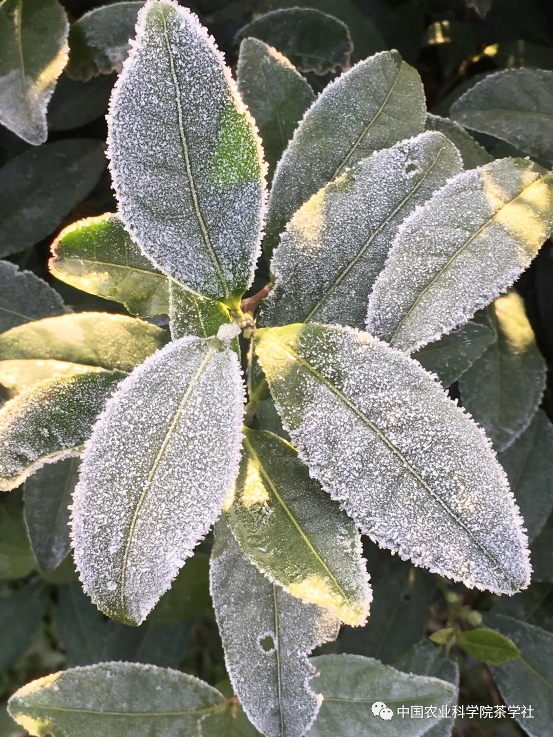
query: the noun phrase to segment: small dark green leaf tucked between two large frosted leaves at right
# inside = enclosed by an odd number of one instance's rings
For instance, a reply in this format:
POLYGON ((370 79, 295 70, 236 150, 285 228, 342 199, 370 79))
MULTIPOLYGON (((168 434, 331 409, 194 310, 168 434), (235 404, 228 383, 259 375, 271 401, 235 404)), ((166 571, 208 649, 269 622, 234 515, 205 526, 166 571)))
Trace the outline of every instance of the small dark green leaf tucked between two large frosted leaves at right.
POLYGON ((495 332, 490 325, 469 320, 434 343, 427 343, 413 354, 413 358, 431 374, 437 374, 447 387, 459 379, 495 340, 495 332))

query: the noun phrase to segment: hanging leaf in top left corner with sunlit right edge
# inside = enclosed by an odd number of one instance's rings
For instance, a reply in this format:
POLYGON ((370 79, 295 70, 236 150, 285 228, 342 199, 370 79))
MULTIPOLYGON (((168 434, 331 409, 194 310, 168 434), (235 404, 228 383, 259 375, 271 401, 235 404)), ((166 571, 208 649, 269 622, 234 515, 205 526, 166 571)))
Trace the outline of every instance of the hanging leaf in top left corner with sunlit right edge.
POLYGON ((68 32, 58 0, 0 3, 0 123, 35 146, 48 137, 46 108, 67 63, 68 32))

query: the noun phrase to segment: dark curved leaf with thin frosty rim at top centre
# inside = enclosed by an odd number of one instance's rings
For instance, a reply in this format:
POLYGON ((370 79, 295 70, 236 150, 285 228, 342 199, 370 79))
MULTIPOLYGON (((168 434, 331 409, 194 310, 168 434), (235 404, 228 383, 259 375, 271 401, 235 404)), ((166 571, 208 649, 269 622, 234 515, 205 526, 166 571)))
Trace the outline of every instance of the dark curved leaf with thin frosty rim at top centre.
POLYGON ((237 41, 259 38, 291 60, 301 71, 328 74, 347 69, 353 51, 345 23, 313 7, 291 7, 265 13, 240 29, 237 41))

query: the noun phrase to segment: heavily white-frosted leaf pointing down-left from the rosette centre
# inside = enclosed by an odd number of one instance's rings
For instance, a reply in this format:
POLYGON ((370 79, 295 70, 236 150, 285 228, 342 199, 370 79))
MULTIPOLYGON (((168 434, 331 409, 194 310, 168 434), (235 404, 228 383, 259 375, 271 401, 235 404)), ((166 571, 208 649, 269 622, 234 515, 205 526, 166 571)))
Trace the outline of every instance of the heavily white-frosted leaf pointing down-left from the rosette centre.
POLYGON ((243 383, 216 338, 181 338, 119 385, 83 455, 72 511, 83 588, 140 624, 215 522, 240 460, 243 383))

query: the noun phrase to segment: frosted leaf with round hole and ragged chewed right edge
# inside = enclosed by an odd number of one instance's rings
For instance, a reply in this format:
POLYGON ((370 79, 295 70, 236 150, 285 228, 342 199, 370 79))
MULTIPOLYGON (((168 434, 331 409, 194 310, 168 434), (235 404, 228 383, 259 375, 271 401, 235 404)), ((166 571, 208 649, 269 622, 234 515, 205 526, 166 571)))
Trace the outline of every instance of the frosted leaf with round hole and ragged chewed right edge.
POLYGON ((266 737, 301 737, 321 705, 307 655, 338 636, 338 620, 271 584, 224 519, 215 528, 210 578, 226 669, 248 719, 266 737))

